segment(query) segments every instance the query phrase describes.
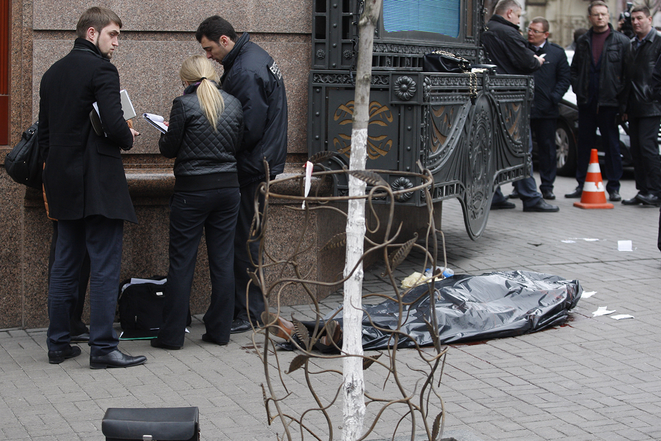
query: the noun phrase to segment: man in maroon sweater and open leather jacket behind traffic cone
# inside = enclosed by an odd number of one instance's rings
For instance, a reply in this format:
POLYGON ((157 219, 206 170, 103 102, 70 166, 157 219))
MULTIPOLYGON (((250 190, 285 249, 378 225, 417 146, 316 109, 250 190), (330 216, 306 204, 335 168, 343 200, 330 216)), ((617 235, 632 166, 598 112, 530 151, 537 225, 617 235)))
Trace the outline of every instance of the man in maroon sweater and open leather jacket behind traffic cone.
POLYGON ((590 150, 596 148, 596 130, 602 134, 609 200, 621 200, 619 179, 622 158, 619 149, 617 116, 625 110, 625 63, 631 43, 608 22, 608 7, 596 0, 588 6, 592 28, 576 42, 576 52, 570 67, 572 89, 578 104, 578 147, 576 149, 576 181, 578 186, 565 198, 580 198, 588 173, 590 150))

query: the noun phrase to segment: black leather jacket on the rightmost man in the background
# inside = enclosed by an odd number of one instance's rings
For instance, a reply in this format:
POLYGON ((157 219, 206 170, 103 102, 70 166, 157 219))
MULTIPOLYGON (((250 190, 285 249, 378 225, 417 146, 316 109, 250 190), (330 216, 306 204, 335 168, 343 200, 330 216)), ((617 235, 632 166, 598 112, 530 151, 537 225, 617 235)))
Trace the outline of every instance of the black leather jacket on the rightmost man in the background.
POLYGON ((637 118, 661 115, 661 104, 654 101, 652 93, 652 72, 661 55, 661 32, 652 31, 642 39, 641 46, 636 38, 631 39, 631 61, 627 63, 630 80, 627 114, 637 118))

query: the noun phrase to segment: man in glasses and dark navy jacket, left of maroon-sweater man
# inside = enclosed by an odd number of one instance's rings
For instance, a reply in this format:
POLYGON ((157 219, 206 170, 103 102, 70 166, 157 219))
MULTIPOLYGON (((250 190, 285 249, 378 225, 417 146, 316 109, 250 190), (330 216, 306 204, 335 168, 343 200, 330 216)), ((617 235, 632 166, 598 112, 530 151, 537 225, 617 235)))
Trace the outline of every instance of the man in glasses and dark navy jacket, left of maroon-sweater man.
POLYGON ((543 198, 555 199, 553 182, 557 169, 555 130, 560 116, 558 103, 569 89, 571 77, 564 49, 549 42, 549 22, 535 17, 528 25, 528 42, 543 65, 533 73, 535 97, 530 109, 530 128, 539 149, 539 190, 543 198))

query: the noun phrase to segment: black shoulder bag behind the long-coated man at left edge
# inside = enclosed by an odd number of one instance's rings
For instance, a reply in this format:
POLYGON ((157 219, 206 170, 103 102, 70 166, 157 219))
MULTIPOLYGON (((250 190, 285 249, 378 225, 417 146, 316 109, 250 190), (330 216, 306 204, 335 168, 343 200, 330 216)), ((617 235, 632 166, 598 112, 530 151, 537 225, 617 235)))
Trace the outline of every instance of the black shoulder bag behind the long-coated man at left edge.
POLYGON ((11 179, 28 187, 42 189, 42 171, 44 161, 39 151, 37 128, 35 122, 23 132, 20 141, 5 157, 5 169, 11 179))

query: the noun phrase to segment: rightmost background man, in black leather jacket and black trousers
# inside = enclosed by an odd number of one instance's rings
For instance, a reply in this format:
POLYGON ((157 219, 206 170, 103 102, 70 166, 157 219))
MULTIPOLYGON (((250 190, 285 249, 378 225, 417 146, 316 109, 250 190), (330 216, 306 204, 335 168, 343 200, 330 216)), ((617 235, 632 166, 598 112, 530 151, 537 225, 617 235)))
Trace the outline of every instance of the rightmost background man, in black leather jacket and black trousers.
POLYGON ((652 95, 652 72, 661 55, 661 33, 652 28, 652 17, 646 6, 631 11, 635 37, 631 39, 631 62, 627 79, 631 81, 625 116, 629 121, 633 175, 638 194, 623 200, 625 205, 661 206, 661 161, 658 131, 661 104, 652 95))

